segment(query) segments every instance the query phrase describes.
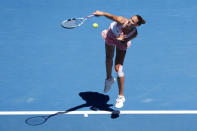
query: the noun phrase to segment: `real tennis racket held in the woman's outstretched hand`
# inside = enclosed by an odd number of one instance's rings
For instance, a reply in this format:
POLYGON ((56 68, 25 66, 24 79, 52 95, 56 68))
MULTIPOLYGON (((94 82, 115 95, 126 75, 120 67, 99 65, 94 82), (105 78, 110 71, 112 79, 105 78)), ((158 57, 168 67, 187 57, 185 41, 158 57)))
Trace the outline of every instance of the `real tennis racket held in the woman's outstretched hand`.
POLYGON ((73 29, 75 27, 81 26, 88 18, 91 18, 94 15, 89 15, 84 18, 71 18, 62 21, 61 26, 66 29, 73 29))

